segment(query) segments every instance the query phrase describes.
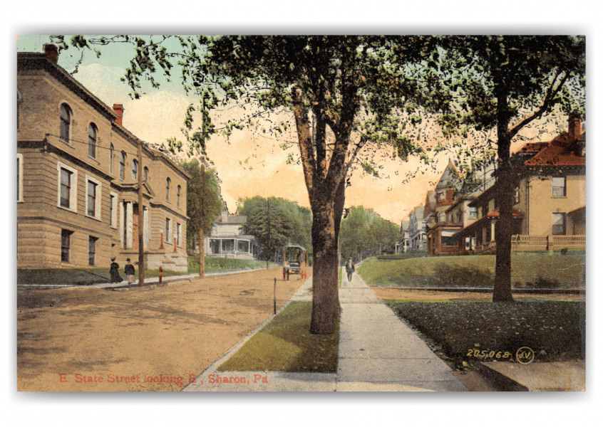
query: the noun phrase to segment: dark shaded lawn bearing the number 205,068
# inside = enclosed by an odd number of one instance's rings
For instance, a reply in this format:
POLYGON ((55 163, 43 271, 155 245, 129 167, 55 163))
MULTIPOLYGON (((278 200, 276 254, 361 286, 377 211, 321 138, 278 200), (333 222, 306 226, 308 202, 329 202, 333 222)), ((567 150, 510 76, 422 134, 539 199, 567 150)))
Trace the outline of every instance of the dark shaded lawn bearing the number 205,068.
POLYGON ((463 362, 513 360, 521 347, 535 352, 535 362, 583 358, 583 301, 386 302, 440 356, 459 367, 463 362))

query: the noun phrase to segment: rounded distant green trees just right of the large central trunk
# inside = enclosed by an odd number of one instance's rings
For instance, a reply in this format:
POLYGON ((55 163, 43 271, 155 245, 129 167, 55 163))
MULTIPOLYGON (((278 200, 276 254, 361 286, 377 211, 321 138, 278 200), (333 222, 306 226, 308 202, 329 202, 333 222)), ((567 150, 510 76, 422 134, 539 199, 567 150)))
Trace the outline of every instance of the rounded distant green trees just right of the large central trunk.
POLYGON ((372 209, 352 206, 348 216, 341 220, 339 253, 343 259, 373 248, 385 248, 400 239, 396 224, 378 216, 372 209))

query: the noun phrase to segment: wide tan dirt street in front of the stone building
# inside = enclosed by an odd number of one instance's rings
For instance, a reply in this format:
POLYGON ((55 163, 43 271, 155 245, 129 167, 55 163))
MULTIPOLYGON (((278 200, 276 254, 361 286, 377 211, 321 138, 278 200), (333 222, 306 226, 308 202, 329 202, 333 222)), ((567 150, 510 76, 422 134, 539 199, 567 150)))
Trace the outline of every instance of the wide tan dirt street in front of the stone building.
MULTIPOLYGON (((307 268, 311 275, 311 268, 307 268)), ((281 268, 157 288, 17 292, 19 391, 179 391, 301 286, 281 268)))

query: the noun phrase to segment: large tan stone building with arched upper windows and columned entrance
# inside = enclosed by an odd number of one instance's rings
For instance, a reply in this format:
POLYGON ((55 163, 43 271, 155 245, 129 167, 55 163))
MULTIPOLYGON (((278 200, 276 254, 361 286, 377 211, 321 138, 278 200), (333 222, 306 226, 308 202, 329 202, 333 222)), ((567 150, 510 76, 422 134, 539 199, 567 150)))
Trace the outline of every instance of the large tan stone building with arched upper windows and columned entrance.
POLYGON ((138 164, 122 105, 105 105, 44 48, 17 54, 17 267, 123 265, 138 259, 142 226, 147 267, 186 270, 190 176, 145 143, 138 164))

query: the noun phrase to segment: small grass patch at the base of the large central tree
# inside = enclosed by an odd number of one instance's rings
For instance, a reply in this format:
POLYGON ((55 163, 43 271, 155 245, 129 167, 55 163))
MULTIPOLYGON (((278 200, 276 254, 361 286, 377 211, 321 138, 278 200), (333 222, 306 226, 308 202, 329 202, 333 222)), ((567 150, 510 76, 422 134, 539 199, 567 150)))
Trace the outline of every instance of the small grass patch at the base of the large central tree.
POLYGON ((310 334, 311 302, 292 302, 244 344, 218 371, 335 372, 339 325, 310 334))

